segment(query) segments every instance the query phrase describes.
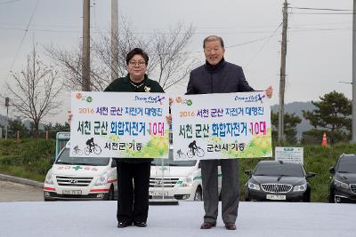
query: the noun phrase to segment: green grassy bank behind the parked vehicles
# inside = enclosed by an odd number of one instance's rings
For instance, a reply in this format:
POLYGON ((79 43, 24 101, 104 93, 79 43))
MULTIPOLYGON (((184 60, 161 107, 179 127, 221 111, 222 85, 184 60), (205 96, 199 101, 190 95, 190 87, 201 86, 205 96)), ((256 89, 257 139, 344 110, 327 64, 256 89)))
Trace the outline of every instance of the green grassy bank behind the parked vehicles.
MULTIPOLYGON (((55 141, 43 138, 28 138, 17 142, 14 139, 0 139, 0 172, 43 182, 47 170, 52 166, 55 141)), ((337 144, 335 146, 303 146, 304 168, 307 172, 316 173, 310 178, 312 201, 325 202, 328 199, 328 185, 331 174, 328 169, 335 165, 340 154, 356 154, 356 145, 337 144)), ((264 159, 239 160, 240 200, 245 199, 247 175, 244 170, 254 170, 257 162, 264 159)))

